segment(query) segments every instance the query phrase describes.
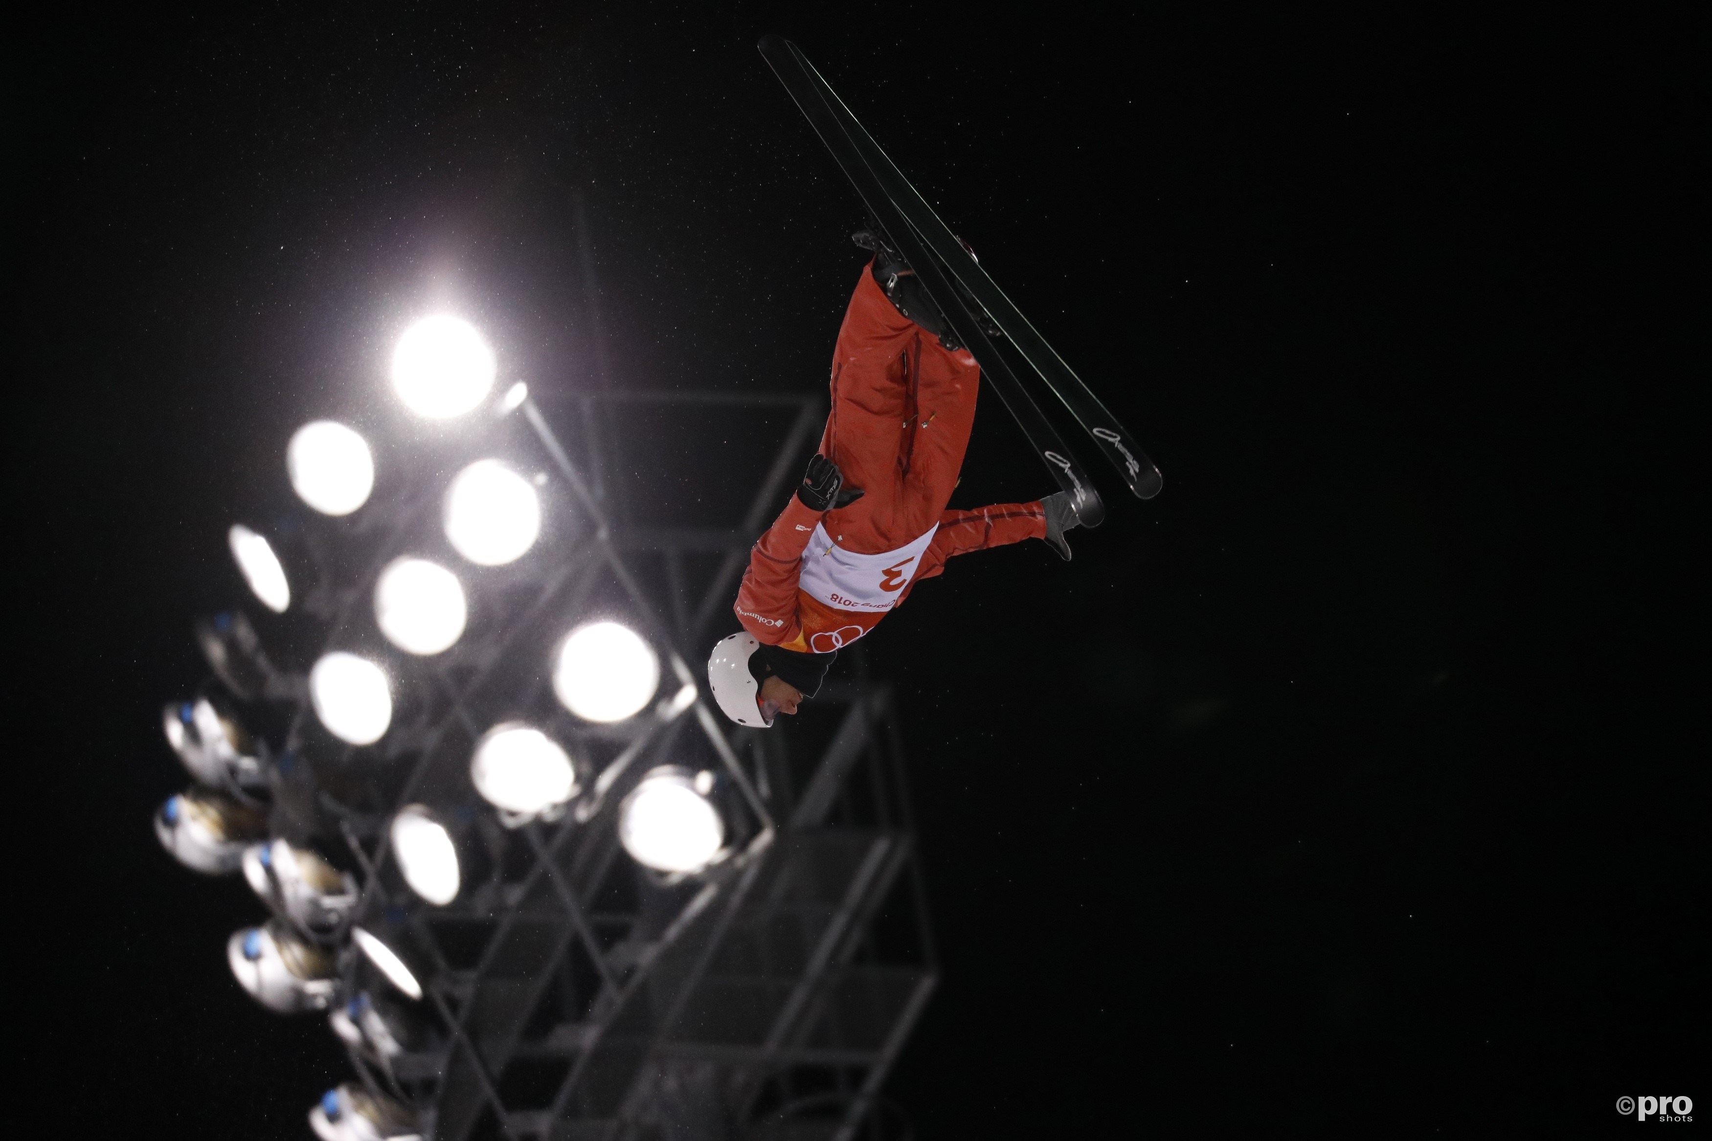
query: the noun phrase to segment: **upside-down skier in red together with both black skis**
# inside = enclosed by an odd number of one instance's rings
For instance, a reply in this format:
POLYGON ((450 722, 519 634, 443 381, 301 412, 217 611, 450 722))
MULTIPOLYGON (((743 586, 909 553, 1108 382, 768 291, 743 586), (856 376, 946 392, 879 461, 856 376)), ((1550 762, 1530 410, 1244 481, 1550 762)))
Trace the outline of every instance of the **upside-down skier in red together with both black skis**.
POLYGON ((762 55, 851 178, 873 217, 873 251, 832 352, 832 411, 784 511, 755 542, 733 606, 743 630, 707 662, 714 700, 740 725, 767 727, 815 696, 827 667, 947 559, 1065 532, 1104 506, 993 340, 1007 337, 1140 498, 1159 472, 880 152, 794 44, 762 55), (995 385, 1060 482, 1032 503, 948 510, 976 393, 995 385))

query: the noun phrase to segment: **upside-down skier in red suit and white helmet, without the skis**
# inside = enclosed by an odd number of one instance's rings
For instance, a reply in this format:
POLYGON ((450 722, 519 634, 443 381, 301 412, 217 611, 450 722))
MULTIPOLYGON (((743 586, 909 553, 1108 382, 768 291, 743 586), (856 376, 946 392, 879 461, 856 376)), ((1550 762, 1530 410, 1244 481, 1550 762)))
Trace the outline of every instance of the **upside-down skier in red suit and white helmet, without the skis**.
POLYGON ((1063 491, 947 510, 981 369, 897 253, 871 229, 856 238, 877 250, 839 328, 818 453, 750 551, 733 606, 745 633, 721 641, 709 662, 714 696, 741 724, 794 713, 837 650, 954 554, 1044 539, 1068 559, 1065 532, 1079 525, 1063 491), (772 706, 765 715, 757 698, 772 706))

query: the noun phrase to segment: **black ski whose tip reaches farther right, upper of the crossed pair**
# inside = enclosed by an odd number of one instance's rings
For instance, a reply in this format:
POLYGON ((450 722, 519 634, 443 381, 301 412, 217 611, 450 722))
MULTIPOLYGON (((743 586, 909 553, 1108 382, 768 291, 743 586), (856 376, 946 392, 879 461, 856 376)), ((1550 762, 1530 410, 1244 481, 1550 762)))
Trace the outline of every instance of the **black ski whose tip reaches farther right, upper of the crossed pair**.
MULTIPOLYGON (((1147 453, 1135 441, 1135 438, 1118 423, 1118 419, 1106 409, 1106 405, 1096 397, 1080 376, 1072 371, 1072 368, 1053 351, 1044 337, 1034 328, 1032 323, 1012 304, 1010 298, 998 287, 998 284, 986 274, 984 269, 964 250, 962 243, 950 231, 948 226, 935 214, 933 207, 916 192, 907 178, 897 169, 897 166, 885 156, 873 137, 863 128, 856 116, 844 106, 837 92, 820 77, 815 67, 803 56, 801 50, 782 39, 779 36, 767 36, 760 44, 762 55, 772 63, 774 72, 791 91, 798 106, 808 113, 810 121, 815 115, 810 106, 805 104, 803 98, 791 86, 791 77, 786 70, 781 70, 781 63, 789 60, 794 70, 801 74, 808 87, 813 91, 815 103, 822 104, 837 127, 837 133, 849 142, 854 151, 856 161, 868 169, 873 181, 878 185, 880 192, 897 207, 897 212, 904 221, 914 229, 916 236, 923 245, 933 250, 933 253, 943 262, 943 265, 957 277, 957 281, 979 301, 981 308, 986 310, 988 316, 1010 337, 1012 344, 1029 363, 1029 366, 1041 376, 1046 387, 1056 395, 1077 423, 1094 438, 1101 452, 1118 470, 1123 481, 1128 484, 1142 500, 1150 500, 1159 494, 1162 486, 1162 477, 1159 469, 1147 458, 1147 453)), ((829 149, 834 151, 834 157, 839 157, 841 166, 846 166, 849 174, 849 166, 844 157, 839 156, 839 149, 827 132, 820 130, 815 123, 822 139, 827 140, 829 149)), ((856 181, 856 176, 851 176, 856 181)), ((866 195, 865 195, 866 197, 866 195)), ((890 233, 889 233, 890 236, 890 233)), ((899 246, 901 248, 901 246, 899 246)), ((911 265, 916 260, 907 250, 902 250, 906 258, 911 258, 911 265)), ((918 270, 919 274, 921 270, 918 270)), ((933 282, 923 281, 928 291, 933 294, 935 301, 940 301, 940 291, 933 287, 933 282)), ((943 303, 942 310, 950 308, 943 303)), ((957 310, 964 310, 960 298, 955 304, 957 310)), ((962 328, 952 322, 952 327, 960 334, 962 328)), ((978 358, 979 359, 979 358, 978 358)), ((983 369, 986 363, 981 361, 983 369)), ((1008 404, 1008 400, 1007 400, 1008 404)), ((1027 429, 1027 426, 1024 426, 1027 429)), ((1051 462, 1051 460, 1049 460, 1051 462)))

